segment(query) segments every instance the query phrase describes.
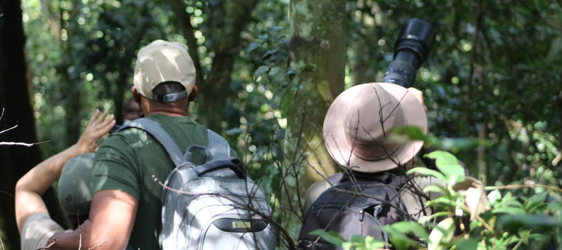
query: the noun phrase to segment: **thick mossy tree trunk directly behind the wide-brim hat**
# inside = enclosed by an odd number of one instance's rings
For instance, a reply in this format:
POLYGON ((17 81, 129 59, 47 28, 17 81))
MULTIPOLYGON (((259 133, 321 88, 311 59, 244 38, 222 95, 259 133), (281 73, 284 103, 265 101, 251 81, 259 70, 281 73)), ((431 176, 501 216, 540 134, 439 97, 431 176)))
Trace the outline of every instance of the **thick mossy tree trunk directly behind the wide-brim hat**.
MULTIPOLYGON (((283 201, 285 205, 296 202, 288 205, 293 211, 302 209, 303 199, 291 200, 304 197, 310 184, 321 178, 316 171, 327 177, 339 169, 324 147, 322 125, 330 103, 344 89, 345 9, 346 3, 342 0, 293 0, 289 7, 293 31, 291 64, 297 69, 298 77, 293 79, 297 90, 287 115, 285 152, 288 158, 284 166, 293 176, 300 176, 303 169, 307 172, 296 181, 295 187, 287 189, 289 193, 296 193, 282 197, 287 198, 283 201)), ((282 217, 284 225, 290 225, 294 220, 294 215, 287 216, 291 217, 282 217)))

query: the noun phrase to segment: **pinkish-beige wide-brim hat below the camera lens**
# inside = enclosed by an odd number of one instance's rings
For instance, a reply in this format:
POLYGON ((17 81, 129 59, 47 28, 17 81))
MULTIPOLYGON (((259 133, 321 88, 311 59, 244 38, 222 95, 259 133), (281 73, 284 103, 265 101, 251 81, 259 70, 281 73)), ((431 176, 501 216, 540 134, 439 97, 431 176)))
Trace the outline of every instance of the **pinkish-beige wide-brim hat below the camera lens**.
POLYGON ((334 100, 324 119, 324 143, 332 158, 359 172, 391 170, 410 161, 420 140, 388 140, 392 130, 415 126, 427 133, 427 116, 415 94, 397 84, 356 85, 334 100))

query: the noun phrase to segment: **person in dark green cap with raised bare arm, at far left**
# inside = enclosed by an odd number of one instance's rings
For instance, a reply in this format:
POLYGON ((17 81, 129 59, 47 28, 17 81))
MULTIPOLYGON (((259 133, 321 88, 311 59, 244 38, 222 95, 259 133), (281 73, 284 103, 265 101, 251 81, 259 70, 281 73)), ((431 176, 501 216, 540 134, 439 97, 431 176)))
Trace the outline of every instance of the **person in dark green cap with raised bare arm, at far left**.
POLYGON ((91 168, 91 152, 97 150, 98 139, 115 125, 114 116, 106 117, 107 112, 96 110, 76 144, 39 163, 17 181, 15 210, 21 249, 42 248, 55 233, 64 231, 62 226, 51 219, 41 198, 59 176, 61 179, 57 194, 65 214, 74 220, 78 214, 87 215, 88 210, 85 209, 89 208, 88 200, 91 199, 91 194, 88 197, 91 175, 87 175, 88 168, 91 168), (72 173, 66 174, 70 169, 72 173), (61 181, 67 184, 61 185, 61 181), (81 196, 76 196, 76 192, 80 192, 81 196), (83 205, 78 206, 82 203, 83 205))

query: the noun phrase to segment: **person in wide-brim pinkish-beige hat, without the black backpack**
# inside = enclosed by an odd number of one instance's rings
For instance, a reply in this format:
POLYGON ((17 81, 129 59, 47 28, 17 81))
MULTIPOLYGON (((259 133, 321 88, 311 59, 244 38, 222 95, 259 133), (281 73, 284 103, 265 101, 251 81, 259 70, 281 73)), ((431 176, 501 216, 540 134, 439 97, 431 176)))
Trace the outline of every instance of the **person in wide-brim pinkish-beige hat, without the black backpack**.
MULTIPOLYGON (((324 118, 324 143, 333 160, 346 175, 374 176, 390 172, 405 175, 415 165, 423 142, 397 143, 389 140, 392 129, 415 126, 427 133, 427 116, 421 92, 391 83, 366 83, 346 89, 332 102, 324 118)), ((416 177, 415 184, 403 189, 402 201, 415 218, 432 213, 424 208, 429 196, 423 187, 437 184, 432 178, 416 177)), ((409 181, 408 183, 411 183, 409 181)), ((327 180, 311 185, 305 198, 305 211, 329 187, 327 180)))

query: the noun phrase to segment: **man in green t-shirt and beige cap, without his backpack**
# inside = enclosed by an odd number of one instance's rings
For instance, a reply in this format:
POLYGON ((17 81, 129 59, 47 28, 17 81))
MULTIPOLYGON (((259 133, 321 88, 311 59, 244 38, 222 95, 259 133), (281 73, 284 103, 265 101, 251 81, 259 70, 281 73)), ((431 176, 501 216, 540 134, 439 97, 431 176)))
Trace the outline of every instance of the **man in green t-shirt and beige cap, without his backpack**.
MULTIPOLYGON (((189 102, 197 95, 193 61, 183 44, 156 40, 141 48, 135 65, 135 102, 185 151, 207 145, 207 129, 188 117, 189 102)), ((192 161, 201 164, 204 153, 192 161)), ((174 163, 165 149, 146 132, 130 128, 112 134, 94 158, 94 196, 89 220, 81 232, 55 235, 51 248, 160 249, 162 187, 152 175, 166 179, 174 163)))

